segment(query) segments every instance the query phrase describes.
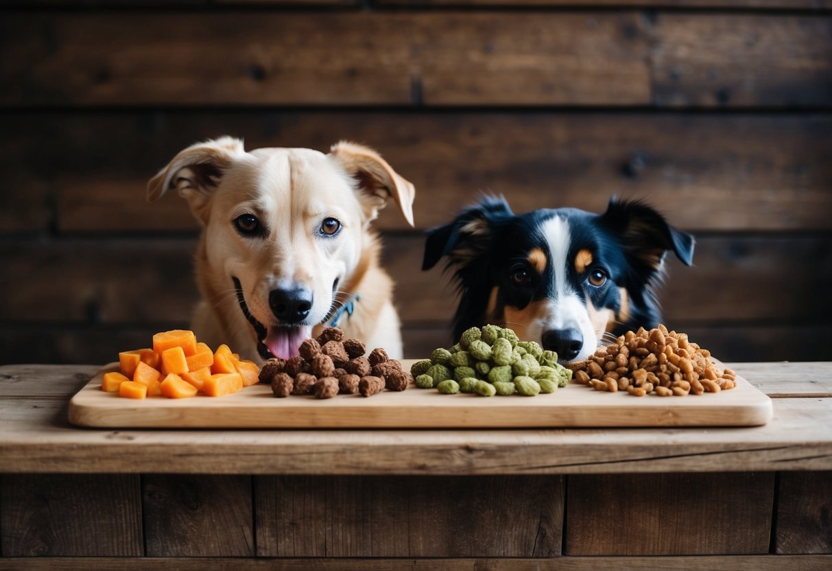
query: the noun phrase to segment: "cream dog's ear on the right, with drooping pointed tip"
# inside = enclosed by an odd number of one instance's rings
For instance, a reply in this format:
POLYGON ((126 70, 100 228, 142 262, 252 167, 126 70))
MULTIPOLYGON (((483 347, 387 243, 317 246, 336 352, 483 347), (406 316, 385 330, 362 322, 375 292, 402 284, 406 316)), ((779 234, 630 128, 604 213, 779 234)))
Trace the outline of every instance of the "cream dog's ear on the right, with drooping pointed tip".
POLYGON ((369 146, 341 141, 332 146, 329 156, 332 156, 356 181, 361 191, 360 200, 367 221, 374 220, 379 210, 387 204, 387 200, 393 197, 404 220, 408 221, 410 226, 414 225, 413 205, 416 190, 413 184, 394 171, 379 153, 369 146))

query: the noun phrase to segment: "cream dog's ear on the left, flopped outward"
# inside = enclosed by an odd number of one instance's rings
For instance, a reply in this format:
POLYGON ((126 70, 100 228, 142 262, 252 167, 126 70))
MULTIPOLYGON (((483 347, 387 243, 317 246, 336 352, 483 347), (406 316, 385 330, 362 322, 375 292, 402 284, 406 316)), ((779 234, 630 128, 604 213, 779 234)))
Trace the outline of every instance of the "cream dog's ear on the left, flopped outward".
POLYGON ((191 205, 194 215, 205 221, 210 191, 223 171, 244 154, 243 142, 234 137, 191 145, 179 151, 167 166, 147 181, 147 201, 155 201, 166 191, 176 188, 179 196, 191 205))

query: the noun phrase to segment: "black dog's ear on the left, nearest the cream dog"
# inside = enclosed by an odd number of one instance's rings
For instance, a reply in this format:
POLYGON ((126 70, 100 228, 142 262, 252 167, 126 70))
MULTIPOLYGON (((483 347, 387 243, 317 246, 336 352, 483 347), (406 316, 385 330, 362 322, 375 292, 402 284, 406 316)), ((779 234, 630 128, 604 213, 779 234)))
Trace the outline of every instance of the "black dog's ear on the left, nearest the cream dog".
POLYGON ((424 246, 422 270, 436 266, 448 256, 453 266, 466 266, 488 251, 494 226, 514 216, 501 196, 488 196, 461 211, 453 222, 428 231, 424 246))

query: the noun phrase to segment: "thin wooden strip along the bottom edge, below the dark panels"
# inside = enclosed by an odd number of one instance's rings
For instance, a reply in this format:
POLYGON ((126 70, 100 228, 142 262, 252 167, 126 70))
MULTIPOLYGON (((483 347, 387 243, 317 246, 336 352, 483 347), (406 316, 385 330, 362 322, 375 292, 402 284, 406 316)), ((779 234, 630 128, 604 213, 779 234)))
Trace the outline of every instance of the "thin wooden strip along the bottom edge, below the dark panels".
POLYGON ((290 559, 290 558, 47 558, 0 559, 0 571, 828 571, 828 555, 718 555, 693 557, 557 557, 551 559, 290 559))

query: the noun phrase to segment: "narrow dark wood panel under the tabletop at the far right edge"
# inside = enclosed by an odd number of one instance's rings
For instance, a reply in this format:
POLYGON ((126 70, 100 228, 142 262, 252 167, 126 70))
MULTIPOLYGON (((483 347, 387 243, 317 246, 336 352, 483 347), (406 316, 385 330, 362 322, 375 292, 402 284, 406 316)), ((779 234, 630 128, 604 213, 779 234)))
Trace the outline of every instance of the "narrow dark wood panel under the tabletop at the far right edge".
POLYGON ((832 472, 780 474, 777 554, 832 554, 832 472))

